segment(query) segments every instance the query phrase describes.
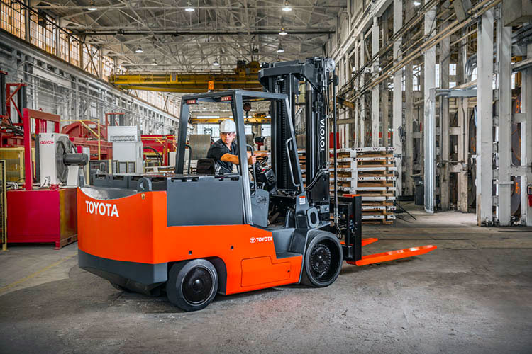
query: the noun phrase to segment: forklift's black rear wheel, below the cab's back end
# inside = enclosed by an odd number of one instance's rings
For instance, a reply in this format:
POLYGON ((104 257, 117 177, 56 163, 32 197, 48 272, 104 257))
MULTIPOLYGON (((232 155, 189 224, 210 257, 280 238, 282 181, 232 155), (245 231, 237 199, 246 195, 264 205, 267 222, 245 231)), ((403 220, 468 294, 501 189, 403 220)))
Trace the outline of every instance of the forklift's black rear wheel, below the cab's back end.
POLYGON ((209 305, 218 291, 218 273, 205 259, 175 263, 170 268, 166 295, 184 311, 197 311, 209 305))

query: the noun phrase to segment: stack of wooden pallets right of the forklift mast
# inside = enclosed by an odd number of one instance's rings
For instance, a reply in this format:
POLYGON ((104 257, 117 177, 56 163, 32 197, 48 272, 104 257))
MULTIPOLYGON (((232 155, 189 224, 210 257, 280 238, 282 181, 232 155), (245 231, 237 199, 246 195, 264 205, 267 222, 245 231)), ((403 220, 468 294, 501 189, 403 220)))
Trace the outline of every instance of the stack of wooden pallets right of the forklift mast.
MULTIPOLYGON (((338 149, 337 164, 338 195, 362 196, 362 221, 365 224, 392 224, 397 189, 394 148, 338 149)), ((331 181, 333 183, 332 178, 331 181)), ((331 190, 333 188, 331 184, 331 190)))

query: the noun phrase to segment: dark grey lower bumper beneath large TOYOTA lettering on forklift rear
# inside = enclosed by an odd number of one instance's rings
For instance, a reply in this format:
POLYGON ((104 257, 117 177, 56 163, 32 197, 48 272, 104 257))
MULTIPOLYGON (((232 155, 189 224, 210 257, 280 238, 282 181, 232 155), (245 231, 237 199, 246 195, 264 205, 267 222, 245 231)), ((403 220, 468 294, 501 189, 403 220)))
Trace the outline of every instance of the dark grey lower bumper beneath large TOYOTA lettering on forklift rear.
POLYGON ((113 275, 132 280, 143 285, 153 285, 168 279, 167 263, 148 264, 92 256, 80 249, 77 250, 79 268, 113 281, 113 275))

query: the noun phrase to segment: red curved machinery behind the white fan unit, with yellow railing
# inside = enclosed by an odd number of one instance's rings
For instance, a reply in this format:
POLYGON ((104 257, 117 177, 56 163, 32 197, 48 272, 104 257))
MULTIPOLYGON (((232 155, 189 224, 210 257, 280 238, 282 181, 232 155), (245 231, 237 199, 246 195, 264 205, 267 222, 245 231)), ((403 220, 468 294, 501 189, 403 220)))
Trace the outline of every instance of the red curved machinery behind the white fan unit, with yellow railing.
POLYGON ((107 125, 96 120, 79 120, 62 127, 61 132, 70 136, 70 140, 81 147, 90 149, 90 159, 113 159, 113 143, 107 141, 107 125))

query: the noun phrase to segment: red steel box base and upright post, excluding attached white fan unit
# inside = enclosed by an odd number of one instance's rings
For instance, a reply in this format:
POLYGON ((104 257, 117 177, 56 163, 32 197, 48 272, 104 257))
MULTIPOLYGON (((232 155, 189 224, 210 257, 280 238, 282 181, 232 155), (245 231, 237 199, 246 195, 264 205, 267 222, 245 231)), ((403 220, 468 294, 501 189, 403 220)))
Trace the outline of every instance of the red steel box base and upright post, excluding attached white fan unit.
POLYGON ((75 188, 33 189, 31 119, 35 136, 46 132, 47 122, 59 132, 60 116, 23 109, 25 188, 8 190, 7 239, 9 243, 54 243, 55 249, 77 240, 77 195, 75 188))

